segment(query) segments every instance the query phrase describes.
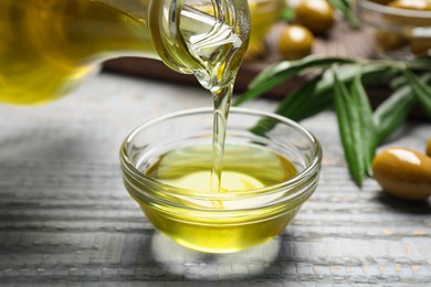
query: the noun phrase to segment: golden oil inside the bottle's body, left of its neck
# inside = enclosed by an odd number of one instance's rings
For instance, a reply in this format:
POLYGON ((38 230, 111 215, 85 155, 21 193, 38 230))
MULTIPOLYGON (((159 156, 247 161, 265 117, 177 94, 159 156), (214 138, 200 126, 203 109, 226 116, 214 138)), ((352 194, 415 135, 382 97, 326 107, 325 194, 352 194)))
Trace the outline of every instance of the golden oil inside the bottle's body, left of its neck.
POLYGON ((155 53, 144 24, 103 1, 2 0, 0 102, 50 102, 112 53, 155 53))

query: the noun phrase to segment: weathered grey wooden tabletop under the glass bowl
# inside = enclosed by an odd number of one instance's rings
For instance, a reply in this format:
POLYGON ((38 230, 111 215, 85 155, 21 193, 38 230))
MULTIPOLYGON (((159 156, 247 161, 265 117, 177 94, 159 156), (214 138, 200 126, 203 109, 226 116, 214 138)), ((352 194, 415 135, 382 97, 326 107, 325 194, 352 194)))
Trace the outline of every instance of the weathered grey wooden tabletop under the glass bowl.
MULTIPOLYGON (((111 74, 48 106, 1 105, 0 285, 431 286, 430 201, 372 180, 358 190, 330 111, 303 123, 323 145, 322 180, 278 238, 212 256, 155 232, 123 187, 118 147, 143 121, 210 105, 203 89, 111 74)), ((386 145, 423 150, 428 137, 414 123, 386 145)))

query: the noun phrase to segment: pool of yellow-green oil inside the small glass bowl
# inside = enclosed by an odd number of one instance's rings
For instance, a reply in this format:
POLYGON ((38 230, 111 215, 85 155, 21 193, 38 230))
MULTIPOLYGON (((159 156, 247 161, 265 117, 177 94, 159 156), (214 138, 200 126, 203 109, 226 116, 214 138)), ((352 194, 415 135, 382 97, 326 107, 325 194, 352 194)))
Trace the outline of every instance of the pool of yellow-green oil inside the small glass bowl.
POLYGON ((214 195, 210 184, 211 150, 211 146, 176 149, 143 171, 174 187, 170 192, 183 189, 193 194, 169 198, 167 205, 137 199, 148 219, 179 244, 209 253, 241 251, 278 235, 298 206, 283 203, 265 208, 251 193, 293 178, 297 173, 293 163, 264 147, 227 145, 220 194, 232 195, 231 199, 217 200, 216 193, 211 200, 197 201, 195 196, 199 194, 214 195), (251 196, 246 201, 236 200, 235 193, 243 192, 250 192, 251 196), (248 204, 255 208, 248 209, 248 204))

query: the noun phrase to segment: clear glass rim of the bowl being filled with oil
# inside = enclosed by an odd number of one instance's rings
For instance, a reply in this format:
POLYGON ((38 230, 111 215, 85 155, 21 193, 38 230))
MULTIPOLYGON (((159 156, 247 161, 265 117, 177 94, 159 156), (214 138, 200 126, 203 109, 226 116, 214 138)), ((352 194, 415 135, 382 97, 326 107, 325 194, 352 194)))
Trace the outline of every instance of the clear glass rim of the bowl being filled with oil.
MULTIPOLYGON (((294 189, 295 187, 301 187, 301 184, 308 178, 313 177, 316 172, 318 172, 320 164, 322 164, 322 159, 323 159, 323 151, 322 151, 322 146, 317 138, 309 132, 307 129, 305 129, 302 125, 298 123, 288 119, 286 117, 283 117, 277 114, 269 113, 269 111, 262 111, 257 109, 252 109, 252 108, 243 108, 243 107, 231 107, 230 108, 230 115, 231 114, 245 114, 245 115, 253 115, 253 116, 262 116, 262 117, 271 117, 275 118, 276 120, 280 120, 283 124, 286 124, 291 126, 292 128, 295 129, 295 131, 299 131, 305 136, 309 145, 314 148, 313 149, 313 157, 311 157, 309 163, 306 166, 304 170, 298 172, 295 177, 291 178, 287 181, 260 188, 260 189, 253 189, 253 190, 246 190, 246 191, 234 191, 234 192, 227 192, 227 193, 200 193, 197 191, 190 191, 187 189, 181 189, 175 185, 170 185, 168 183, 164 183, 157 179, 154 179, 151 177, 146 176, 145 173, 140 172, 135 166, 133 164, 132 160, 128 158, 127 155, 127 147, 132 142, 132 140, 136 137, 136 135, 145 129, 148 126, 151 126, 154 124, 157 124, 159 121, 164 121, 166 119, 171 119, 176 117, 181 117, 181 116, 187 116, 187 115, 193 115, 193 114, 209 114, 212 113, 213 108, 212 107, 199 107, 199 108, 190 108, 190 109, 185 109, 180 111, 175 111, 160 117, 156 117, 154 119, 150 119, 135 129, 132 130, 132 132, 126 137, 126 139, 123 141, 120 146, 120 163, 124 168, 127 169, 129 173, 134 177, 135 180, 138 180, 139 182, 141 181, 149 181, 153 184, 157 184, 160 187, 164 187, 164 193, 168 193, 174 196, 178 195, 185 195, 185 196, 192 196, 195 199, 202 199, 202 200, 238 200, 238 199, 243 199, 243 198, 249 198, 249 196, 255 196, 255 195, 269 195, 271 193, 276 193, 280 192, 280 190, 284 190, 286 188, 292 188, 294 189)), ((229 130, 229 127, 228 127, 229 130)), ((130 174, 129 174, 130 176, 130 174)), ((299 189, 299 192, 294 192, 292 194, 292 198, 302 195, 305 193, 306 190, 299 189)))

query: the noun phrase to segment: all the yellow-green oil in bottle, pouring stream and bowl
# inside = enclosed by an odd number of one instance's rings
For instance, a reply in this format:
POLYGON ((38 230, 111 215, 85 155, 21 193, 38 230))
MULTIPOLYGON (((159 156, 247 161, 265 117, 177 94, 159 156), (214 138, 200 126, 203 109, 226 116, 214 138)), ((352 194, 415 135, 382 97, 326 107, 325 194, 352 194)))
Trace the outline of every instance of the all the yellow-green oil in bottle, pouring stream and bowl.
MULTIPOLYGON (((153 3, 161 7, 161 2, 153 3)), ((246 50, 240 31, 211 22, 214 11, 195 7, 185 10, 181 39, 155 39, 148 28, 149 3, 1 0, 0 102, 50 102, 80 85, 107 59, 158 59, 164 51, 157 43, 183 41, 191 57, 182 57, 181 50, 170 53, 213 95, 213 146, 174 150, 145 172, 175 187, 211 194, 260 189, 293 177, 296 171, 287 159, 263 148, 227 147, 224 151, 233 83, 246 50)), ((172 205, 160 208, 136 200, 157 228, 182 245, 207 252, 234 252, 265 242, 277 235, 295 212, 286 212, 286 205, 259 211, 241 211, 238 206, 236 214, 220 217, 192 206, 176 213, 172 205)), ((231 204, 223 200, 210 202, 216 213, 223 213, 231 204)), ((188 202, 181 204, 187 206, 188 202)))

